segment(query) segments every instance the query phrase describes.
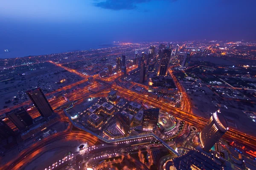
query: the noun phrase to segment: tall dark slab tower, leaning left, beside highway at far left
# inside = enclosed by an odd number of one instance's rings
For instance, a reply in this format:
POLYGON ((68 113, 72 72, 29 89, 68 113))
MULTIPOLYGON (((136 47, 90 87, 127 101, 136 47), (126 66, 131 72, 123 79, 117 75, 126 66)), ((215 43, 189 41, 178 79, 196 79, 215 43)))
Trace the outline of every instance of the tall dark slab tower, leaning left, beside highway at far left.
POLYGON ((53 110, 41 88, 35 88, 26 92, 30 100, 33 102, 38 112, 43 117, 52 116, 53 110))

